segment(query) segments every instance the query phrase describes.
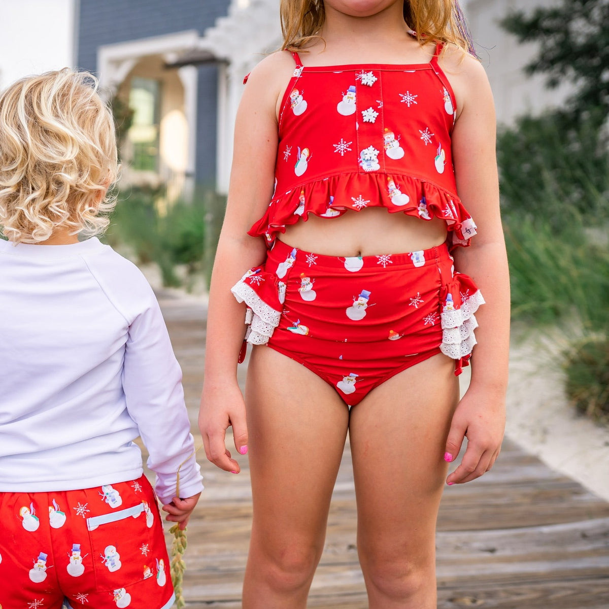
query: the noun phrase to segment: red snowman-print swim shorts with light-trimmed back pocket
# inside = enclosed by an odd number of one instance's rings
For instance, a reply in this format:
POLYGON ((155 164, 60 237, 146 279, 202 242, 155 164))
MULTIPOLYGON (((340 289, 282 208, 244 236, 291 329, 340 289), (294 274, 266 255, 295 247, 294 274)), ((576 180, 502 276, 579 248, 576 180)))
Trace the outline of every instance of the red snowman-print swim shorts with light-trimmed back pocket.
POLYGON ((0 493, 2 609, 169 609, 174 588, 146 477, 55 493, 0 493))

